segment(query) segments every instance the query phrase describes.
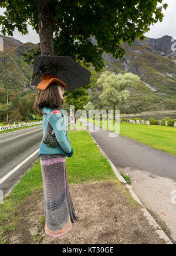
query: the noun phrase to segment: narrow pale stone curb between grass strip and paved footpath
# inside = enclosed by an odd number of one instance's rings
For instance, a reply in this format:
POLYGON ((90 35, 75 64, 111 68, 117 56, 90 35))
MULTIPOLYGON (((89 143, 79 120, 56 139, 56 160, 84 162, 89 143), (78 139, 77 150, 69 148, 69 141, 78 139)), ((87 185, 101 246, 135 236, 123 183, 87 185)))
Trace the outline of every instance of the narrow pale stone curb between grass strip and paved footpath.
MULTIPOLYGON (((90 134, 89 130, 87 130, 87 132, 90 134)), ((92 135, 90 134, 90 136, 92 137, 92 135)), ((127 184, 126 180, 124 180, 124 178, 120 175, 119 171, 117 170, 117 168, 114 166, 114 164, 111 162, 111 160, 109 159, 109 157, 104 153, 103 149, 101 149, 101 147, 99 146, 99 144, 97 144, 96 140, 94 140, 94 138, 92 137, 94 143, 96 143, 97 147, 99 147, 101 153, 103 154, 104 157, 106 157, 106 159, 109 161, 111 168, 113 169, 114 173, 116 174, 116 177, 118 178, 118 180, 120 181, 120 183, 123 183, 127 190, 130 192, 131 196, 133 197, 133 199, 141 205, 141 210, 143 211, 144 217, 147 218, 149 224, 151 226, 154 227, 155 229, 155 233, 157 233, 159 235, 159 237, 161 239, 163 239, 165 241, 165 244, 173 244, 170 240, 170 238, 168 238, 167 234, 164 233, 163 230, 161 230, 161 227, 158 225, 158 223, 154 220, 154 218, 151 216, 151 214, 147 211, 147 209, 145 208, 144 204, 141 203, 140 199, 138 198, 137 194, 134 193, 133 189, 127 184)))

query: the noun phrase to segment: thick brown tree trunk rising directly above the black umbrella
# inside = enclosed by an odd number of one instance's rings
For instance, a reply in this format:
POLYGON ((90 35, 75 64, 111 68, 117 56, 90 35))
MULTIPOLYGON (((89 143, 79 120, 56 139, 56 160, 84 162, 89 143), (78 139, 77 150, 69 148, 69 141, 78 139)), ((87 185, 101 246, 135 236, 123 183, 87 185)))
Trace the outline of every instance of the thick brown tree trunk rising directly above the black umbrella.
POLYGON ((53 6, 50 0, 39 0, 39 36, 41 55, 53 52, 53 6))

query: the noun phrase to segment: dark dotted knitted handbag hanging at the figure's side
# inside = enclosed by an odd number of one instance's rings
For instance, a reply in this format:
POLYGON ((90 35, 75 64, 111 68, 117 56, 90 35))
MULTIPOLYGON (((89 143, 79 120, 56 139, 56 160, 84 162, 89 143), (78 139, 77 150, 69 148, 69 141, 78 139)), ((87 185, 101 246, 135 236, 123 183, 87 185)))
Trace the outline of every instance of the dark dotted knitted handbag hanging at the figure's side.
MULTIPOLYGON (((62 117, 63 117, 63 114, 62 114, 62 117)), ((45 137, 43 138, 42 142, 49 147, 53 147, 54 149, 56 149, 56 147, 59 145, 55 136, 55 132, 49 122, 48 122, 48 127, 45 133, 45 137)))

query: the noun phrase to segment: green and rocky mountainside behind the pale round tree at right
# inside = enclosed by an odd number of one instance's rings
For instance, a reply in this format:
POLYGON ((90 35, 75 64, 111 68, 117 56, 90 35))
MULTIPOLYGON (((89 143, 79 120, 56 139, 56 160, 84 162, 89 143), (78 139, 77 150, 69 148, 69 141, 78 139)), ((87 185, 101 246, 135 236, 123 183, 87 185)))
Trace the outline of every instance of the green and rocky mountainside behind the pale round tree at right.
MULTIPOLYGON (((104 53, 106 69, 115 73, 131 72, 142 80, 135 90, 128 88, 130 98, 120 107, 121 112, 176 109, 176 63, 171 39, 170 36, 147 38, 136 41, 132 46, 124 43, 126 55, 123 60, 104 53)), ((98 89, 91 93, 92 103, 97 105, 99 94, 98 89)))

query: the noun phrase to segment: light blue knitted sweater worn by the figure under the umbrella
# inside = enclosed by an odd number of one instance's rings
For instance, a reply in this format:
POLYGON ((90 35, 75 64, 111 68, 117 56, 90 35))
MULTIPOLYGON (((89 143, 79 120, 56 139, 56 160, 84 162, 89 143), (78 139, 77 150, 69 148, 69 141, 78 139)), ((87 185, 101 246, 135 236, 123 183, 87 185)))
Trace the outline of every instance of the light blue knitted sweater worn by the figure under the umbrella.
MULTIPOLYGON (((43 107, 42 109, 44 116, 43 116, 43 138, 45 136, 48 121, 52 126, 57 142, 59 145, 54 149, 53 147, 49 147, 43 142, 40 143, 40 151, 39 156, 41 154, 65 154, 67 157, 71 157, 73 155, 73 149, 70 144, 69 137, 66 136, 67 134, 67 121, 66 116, 62 117, 62 110, 59 110, 59 113, 53 112, 53 109, 48 109, 43 107), (53 112, 50 114, 50 112, 53 112), (50 115, 49 115, 50 114, 50 115), (49 117, 49 118, 48 118, 49 117)), ((42 140, 43 140, 42 138, 42 140)))

